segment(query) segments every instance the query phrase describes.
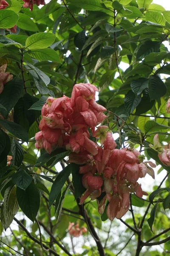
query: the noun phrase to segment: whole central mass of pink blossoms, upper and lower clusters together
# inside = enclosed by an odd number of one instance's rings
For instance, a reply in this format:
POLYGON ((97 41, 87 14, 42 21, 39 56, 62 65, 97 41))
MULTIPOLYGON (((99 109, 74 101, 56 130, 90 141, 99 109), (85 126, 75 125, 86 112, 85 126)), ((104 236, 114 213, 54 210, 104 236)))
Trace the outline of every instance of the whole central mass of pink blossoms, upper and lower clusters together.
POLYGON ((93 84, 80 83, 74 85, 71 98, 48 97, 42 107, 41 131, 35 135, 35 146, 45 148, 49 154, 57 146, 71 150, 68 163, 83 165, 79 173, 86 191, 80 204, 88 197, 96 199, 99 213, 107 205, 108 218, 113 220, 129 209, 130 192, 140 198, 147 195, 137 180, 147 173, 154 178, 152 167, 156 166, 150 161, 143 162, 144 156, 136 149, 115 149, 108 126, 96 129, 106 117, 106 109, 95 101, 96 91, 93 84))

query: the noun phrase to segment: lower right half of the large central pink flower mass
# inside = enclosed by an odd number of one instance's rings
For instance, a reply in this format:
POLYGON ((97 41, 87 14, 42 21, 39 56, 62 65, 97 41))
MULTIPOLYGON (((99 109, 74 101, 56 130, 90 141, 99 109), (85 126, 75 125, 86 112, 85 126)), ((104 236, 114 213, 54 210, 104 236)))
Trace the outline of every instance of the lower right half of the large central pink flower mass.
POLYGON ((151 169, 156 167, 150 161, 144 163, 143 156, 136 149, 115 149, 115 146, 112 134, 107 132, 103 148, 98 147, 98 154, 79 170, 79 173, 83 174, 82 184, 87 189, 81 197, 80 204, 88 196, 91 200, 97 199, 98 211, 102 214, 108 200, 106 212, 110 220, 125 215, 130 207, 130 192, 136 193, 140 198, 147 195, 137 180, 145 177, 147 173, 154 178, 151 169), (102 192, 105 192, 105 195, 99 201, 102 192))

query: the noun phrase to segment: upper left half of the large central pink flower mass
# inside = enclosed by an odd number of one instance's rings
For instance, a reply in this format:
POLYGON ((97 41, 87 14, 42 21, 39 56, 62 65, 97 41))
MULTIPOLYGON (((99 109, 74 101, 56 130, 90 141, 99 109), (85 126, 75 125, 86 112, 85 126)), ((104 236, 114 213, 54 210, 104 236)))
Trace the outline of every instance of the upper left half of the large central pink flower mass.
POLYGON ((75 84, 71 98, 48 97, 41 111, 41 131, 35 135, 36 148, 45 148, 49 154, 57 146, 82 155, 98 154, 88 130, 94 131, 105 119, 106 109, 95 101, 97 90, 93 84, 75 84))

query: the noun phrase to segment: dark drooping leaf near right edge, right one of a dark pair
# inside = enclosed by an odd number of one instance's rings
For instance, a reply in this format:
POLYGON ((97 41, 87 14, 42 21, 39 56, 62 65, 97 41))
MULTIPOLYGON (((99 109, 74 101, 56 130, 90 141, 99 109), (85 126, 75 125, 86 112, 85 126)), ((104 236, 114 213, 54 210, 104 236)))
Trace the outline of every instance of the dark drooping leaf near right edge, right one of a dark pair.
POLYGON ((150 76, 149 95, 150 99, 159 99, 167 92, 167 87, 159 76, 150 76))

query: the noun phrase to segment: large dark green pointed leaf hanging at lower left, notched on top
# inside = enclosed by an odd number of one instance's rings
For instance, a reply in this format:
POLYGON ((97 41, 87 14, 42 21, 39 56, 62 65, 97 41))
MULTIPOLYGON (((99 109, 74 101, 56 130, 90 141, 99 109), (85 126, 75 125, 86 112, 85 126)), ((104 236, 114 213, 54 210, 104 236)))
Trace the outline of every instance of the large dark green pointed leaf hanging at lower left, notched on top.
POLYGON ((25 215, 34 222, 40 207, 40 195, 33 182, 26 190, 17 187, 17 201, 25 215))

